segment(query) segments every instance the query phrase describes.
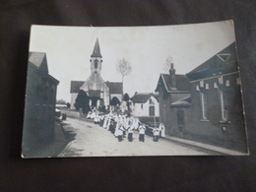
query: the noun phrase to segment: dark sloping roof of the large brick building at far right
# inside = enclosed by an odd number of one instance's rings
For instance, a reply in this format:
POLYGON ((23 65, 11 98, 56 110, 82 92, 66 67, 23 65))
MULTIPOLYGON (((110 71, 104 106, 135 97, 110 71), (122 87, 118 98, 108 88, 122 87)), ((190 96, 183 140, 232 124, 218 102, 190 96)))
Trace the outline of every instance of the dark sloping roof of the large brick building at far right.
POLYGON ((190 80, 195 80, 210 77, 220 72, 224 74, 234 71, 237 71, 237 63, 235 42, 232 42, 186 75, 190 80))

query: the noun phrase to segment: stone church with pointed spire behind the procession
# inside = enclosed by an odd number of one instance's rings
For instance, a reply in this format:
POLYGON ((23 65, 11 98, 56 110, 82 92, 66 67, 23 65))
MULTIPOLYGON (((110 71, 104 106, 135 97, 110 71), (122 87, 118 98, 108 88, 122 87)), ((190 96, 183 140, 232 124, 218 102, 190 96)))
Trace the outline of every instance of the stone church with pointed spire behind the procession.
POLYGON ((98 38, 91 55, 91 75, 87 81, 71 81, 70 94, 71 94, 71 108, 75 108, 74 104, 80 90, 87 93, 90 98, 90 105, 98 106, 100 101, 104 104, 110 105, 111 100, 116 97, 121 102, 123 95, 122 82, 104 82, 100 76, 102 68, 102 56, 100 53, 98 38))

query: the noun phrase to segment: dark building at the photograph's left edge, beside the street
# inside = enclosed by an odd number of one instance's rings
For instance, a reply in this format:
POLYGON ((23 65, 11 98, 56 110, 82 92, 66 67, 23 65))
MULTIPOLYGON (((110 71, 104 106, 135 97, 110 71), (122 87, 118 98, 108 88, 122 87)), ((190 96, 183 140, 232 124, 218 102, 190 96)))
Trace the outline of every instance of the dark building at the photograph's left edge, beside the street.
POLYGON ((52 141, 59 81, 49 75, 46 54, 30 52, 26 88, 23 155, 52 141))

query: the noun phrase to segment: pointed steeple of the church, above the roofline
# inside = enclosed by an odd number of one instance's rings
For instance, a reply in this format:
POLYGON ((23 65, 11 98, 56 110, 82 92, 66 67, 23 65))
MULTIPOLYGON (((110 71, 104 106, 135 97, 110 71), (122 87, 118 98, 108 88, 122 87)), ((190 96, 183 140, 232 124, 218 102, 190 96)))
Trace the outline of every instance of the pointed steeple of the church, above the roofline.
POLYGON ((102 64, 102 56, 100 54, 100 49, 99 49, 99 43, 98 43, 98 39, 96 38, 96 45, 94 48, 94 52, 91 55, 91 75, 93 73, 98 73, 100 75, 100 71, 101 71, 101 64, 102 64))

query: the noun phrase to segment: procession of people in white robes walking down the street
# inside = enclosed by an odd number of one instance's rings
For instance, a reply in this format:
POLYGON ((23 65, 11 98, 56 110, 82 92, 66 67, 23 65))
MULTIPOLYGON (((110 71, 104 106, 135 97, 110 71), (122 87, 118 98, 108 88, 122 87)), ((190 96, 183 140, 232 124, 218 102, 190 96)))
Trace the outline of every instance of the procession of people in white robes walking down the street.
POLYGON ((128 134, 128 142, 132 142, 134 140, 134 131, 139 132, 139 141, 145 142, 146 127, 152 129, 155 142, 159 141, 159 137, 165 136, 165 129, 162 123, 160 123, 159 127, 152 128, 140 122, 138 117, 131 116, 129 113, 113 113, 110 111, 109 113, 104 114, 94 108, 88 113, 87 118, 94 119, 95 124, 99 124, 99 126, 110 131, 116 138, 118 138, 119 142, 126 137, 126 134, 128 134))

